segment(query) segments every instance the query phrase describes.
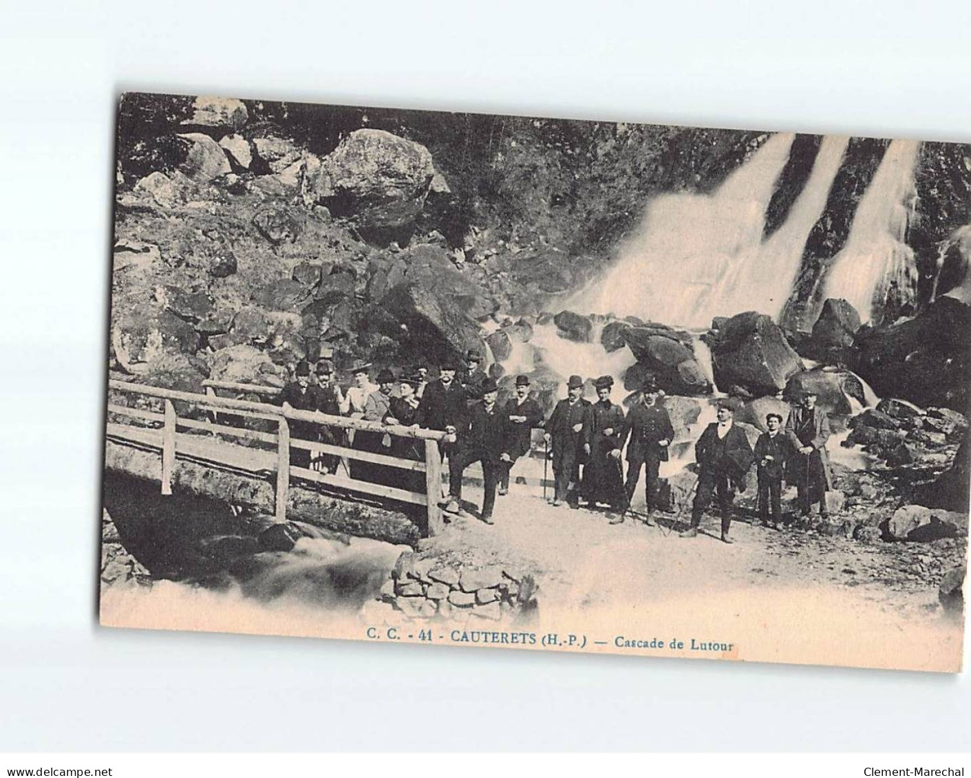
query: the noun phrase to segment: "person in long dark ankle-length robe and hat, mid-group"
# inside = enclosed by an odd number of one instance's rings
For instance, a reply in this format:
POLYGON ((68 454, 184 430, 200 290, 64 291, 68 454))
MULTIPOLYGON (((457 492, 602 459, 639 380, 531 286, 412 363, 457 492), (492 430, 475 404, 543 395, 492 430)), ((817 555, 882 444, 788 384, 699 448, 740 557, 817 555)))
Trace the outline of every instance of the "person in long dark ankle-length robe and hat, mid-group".
POLYGON ((627 435, 627 422, 623 409, 610 400, 614 379, 601 375, 593 386, 597 402, 590 408, 590 456, 584 467, 584 493, 590 508, 595 508, 597 502, 610 505, 610 523, 619 524, 626 502, 620 449, 627 435))

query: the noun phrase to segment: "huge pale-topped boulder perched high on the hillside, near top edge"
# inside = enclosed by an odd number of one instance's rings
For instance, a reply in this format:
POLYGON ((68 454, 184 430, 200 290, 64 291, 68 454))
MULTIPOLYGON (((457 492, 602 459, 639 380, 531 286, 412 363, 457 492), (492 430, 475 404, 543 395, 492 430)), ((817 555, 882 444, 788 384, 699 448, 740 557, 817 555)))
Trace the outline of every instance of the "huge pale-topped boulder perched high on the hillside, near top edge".
MULTIPOLYGON (((411 235, 438 176, 427 148, 385 130, 355 130, 308 173, 305 198, 353 215, 379 243, 411 235)), ((441 178, 441 177, 438 177, 441 178)))

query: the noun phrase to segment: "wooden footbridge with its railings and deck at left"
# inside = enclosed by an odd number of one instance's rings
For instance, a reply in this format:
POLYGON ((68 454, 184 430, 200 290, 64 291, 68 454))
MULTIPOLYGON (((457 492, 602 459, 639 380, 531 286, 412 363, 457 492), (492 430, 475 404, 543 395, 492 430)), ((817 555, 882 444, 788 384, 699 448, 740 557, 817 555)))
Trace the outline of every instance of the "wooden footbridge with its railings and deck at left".
MULTIPOLYGON (((442 457, 439 441, 446 434, 414 427, 385 425, 317 411, 298 410, 284 404, 270 405, 232 397, 236 395, 276 396, 274 387, 224 381, 206 381, 206 393, 180 392, 127 381, 109 381, 107 439, 110 443, 148 453, 157 460, 151 478, 160 484, 162 495, 171 495, 173 472, 180 463, 212 472, 232 473, 269 482, 275 490, 276 517, 286 518, 291 490, 322 491, 350 500, 404 503, 420 506, 427 517, 423 534, 435 535, 443 526, 439 502, 442 499, 442 457), (292 422, 301 429, 327 428, 331 432, 381 433, 392 438, 410 438, 423 446, 423 459, 416 461, 390 454, 359 450, 351 446, 295 438, 292 422), (312 468, 291 462, 291 451, 310 452, 312 468), (341 465, 336 472, 313 469, 315 458, 333 455, 341 465), (367 462, 396 470, 424 473, 424 490, 412 492, 398 486, 353 478, 349 461, 367 462), (343 471, 342 471, 343 470, 343 471)), ((318 436, 312 436, 318 438, 318 436)), ((377 470, 377 469, 375 469, 377 470)))

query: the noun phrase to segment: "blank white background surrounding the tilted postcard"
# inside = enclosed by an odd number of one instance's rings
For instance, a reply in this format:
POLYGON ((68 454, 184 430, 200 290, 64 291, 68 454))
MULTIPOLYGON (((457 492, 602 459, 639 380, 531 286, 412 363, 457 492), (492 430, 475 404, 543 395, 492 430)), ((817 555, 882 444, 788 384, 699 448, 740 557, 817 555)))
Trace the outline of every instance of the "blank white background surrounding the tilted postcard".
POLYGON ((966 143, 971 3, 16 5, 0 11, 0 751, 971 749, 967 674, 95 625, 119 91, 966 143))

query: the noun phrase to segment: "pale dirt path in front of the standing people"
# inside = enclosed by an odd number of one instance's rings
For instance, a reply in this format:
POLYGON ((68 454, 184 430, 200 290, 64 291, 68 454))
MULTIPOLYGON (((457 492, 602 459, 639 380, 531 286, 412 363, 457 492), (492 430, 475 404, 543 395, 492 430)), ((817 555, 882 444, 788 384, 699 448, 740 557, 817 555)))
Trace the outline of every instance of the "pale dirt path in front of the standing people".
MULTIPOLYGON (((466 501, 480 499, 468 488, 466 501)), ((628 517, 553 508, 535 489, 499 498, 494 526, 472 516, 434 539, 440 551, 532 570, 545 625, 616 650, 618 636, 677 633, 730 643, 728 658, 955 669, 962 626, 937 600, 919 549, 775 531, 736 521, 720 542, 628 517), (917 560, 917 561, 915 561, 917 560), (904 569, 900 569, 903 567, 904 569)), ((911 546, 915 544, 909 544, 911 546)), ((701 638, 699 638, 701 639, 701 638)), ((603 649, 608 650, 608 649, 603 649)))

